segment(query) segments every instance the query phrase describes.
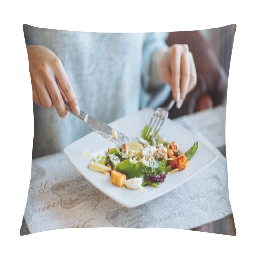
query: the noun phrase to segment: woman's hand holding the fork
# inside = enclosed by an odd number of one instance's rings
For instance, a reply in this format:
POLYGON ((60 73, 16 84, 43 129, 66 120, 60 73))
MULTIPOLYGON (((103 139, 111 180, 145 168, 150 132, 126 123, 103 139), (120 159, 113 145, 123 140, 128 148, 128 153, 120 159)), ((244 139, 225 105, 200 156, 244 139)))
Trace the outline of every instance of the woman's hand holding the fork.
POLYGON ((161 53, 159 71, 180 108, 186 95, 196 86, 197 75, 192 53, 187 44, 174 44, 161 53))

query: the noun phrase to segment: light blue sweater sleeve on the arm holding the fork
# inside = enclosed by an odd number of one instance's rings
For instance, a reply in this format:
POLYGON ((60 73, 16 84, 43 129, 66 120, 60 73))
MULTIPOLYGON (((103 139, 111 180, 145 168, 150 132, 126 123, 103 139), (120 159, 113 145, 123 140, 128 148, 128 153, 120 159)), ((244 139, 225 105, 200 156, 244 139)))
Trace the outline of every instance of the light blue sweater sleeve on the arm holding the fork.
POLYGON ((168 49, 165 43, 166 33, 145 33, 142 53, 141 100, 140 108, 157 108, 168 98, 171 87, 161 83, 158 86, 150 85, 150 65, 154 52, 158 49, 168 49))

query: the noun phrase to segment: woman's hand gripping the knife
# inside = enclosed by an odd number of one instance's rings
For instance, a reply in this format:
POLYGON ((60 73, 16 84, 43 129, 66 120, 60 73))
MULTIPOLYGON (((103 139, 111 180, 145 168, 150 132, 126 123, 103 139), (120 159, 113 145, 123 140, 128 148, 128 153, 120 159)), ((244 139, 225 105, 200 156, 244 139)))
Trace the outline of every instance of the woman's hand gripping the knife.
POLYGON ((44 108, 54 106, 60 117, 67 115, 64 100, 72 111, 80 114, 75 93, 60 59, 41 45, 27 46, 33 101, 44 108))

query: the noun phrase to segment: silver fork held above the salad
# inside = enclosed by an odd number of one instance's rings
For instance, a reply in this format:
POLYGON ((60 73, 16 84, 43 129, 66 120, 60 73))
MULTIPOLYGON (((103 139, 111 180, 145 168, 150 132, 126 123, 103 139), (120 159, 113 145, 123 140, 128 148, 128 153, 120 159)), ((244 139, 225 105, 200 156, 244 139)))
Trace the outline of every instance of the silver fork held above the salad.
POLYGON ((151 117, 150 123, 148 125, 148 130, 147 130, 147 133, 146 133, 146 137, 148 137, 148 135, 149 135, 149 136, 152 136, 151 137, 152 141, 156 140, 156 136, 158 135, 160 129, 162 128, 162 125, 164 124, 164 121, 167 119, 168 114, 169 114, 169 110, 172 108, 174 103, 175 103, 175 100, 172 99, 170 101, 170 103, 168 104, 168 106, 157 108, 155 110, 153 116, 151 117), (156 126, 155 126, 155 124, 156 124, 156 126))

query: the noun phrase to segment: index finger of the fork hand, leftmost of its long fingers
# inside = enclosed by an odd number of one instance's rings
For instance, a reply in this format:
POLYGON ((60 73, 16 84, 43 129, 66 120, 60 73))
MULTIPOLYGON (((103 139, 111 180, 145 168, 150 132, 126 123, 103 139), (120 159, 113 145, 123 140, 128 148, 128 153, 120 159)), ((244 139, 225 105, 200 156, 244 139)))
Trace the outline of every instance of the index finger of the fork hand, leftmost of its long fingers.
POLYGON ((171 74, 172 74, 172 94, 176 102, 180 101, 180 46, 174 44, 171 53, 171 74))

